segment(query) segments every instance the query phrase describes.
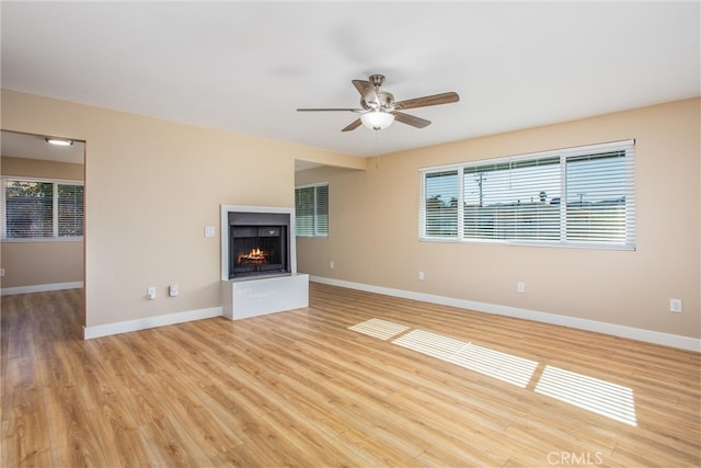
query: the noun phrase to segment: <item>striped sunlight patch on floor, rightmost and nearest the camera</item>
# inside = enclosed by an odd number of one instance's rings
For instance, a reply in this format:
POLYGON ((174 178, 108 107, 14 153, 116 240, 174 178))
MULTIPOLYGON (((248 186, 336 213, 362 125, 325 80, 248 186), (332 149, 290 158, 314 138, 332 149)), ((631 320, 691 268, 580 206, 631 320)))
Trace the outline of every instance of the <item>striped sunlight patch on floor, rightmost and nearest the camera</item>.
POLYGON ((545 366, 536 392, 625 424, 637 425, 633 390, 621 385, 545 366))

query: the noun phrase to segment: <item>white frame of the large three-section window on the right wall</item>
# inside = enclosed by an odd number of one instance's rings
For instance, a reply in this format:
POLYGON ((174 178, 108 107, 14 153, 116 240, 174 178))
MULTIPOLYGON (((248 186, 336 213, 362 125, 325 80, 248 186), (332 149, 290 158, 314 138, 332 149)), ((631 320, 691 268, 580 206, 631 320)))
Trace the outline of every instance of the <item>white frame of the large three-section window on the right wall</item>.
POLYGON ((582 147, 558 149, 551 151, 541 151, 527 155, 518 155, 506 158, 495 158, 489 160, 469 161, 449 165, 422 168, 420 169, 420 214, 418 214, 418 239, 420 241, 430 242, 464 242, 464 243, 497 243, 514 246, 536 246, 536 247, 562 247, 562 248, 593 248, 593 249, 610 249, 610 250, 635 250, 635 140, 621 140, 598 145, 588 145, 582 147), (622 182, 624 187, 624 207, 625 207, 625 239, 624 241, 606 241, 606 240, 572 240, 567 238, 567 204, 565 201, 566 191, 566 163, 576 157, 587 155, 597 155, 606 151, 625 151, 624 168, 625 180, 622 182), (464 170, 469 168, 478 168, 482 165, 502 164, 509 162, 533 161, 537 159, 560 158, 560 191, 562 194, 560 201, 560 236, 556 240, 529 240, 529 239, 486 239, 467 237, 464 235, 464 206, 466 195, 463 190, 464 170), (453 236, 430 236, 426 232, 426 180, 427 175, 441 172, 457 171, 457 232, 453 236))

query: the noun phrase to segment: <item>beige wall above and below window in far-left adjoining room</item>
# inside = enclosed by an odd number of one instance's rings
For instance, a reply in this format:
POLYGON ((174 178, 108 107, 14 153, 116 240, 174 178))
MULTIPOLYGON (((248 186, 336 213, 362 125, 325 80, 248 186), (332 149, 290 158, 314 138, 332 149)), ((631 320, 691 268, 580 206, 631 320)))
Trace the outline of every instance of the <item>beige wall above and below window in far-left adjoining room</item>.
MULTIPOLYGON (((64 180, 83 180, 83 164, 38 159, 0 158, 0 174, 64 180)), ((0 265, 3 289, 83 281, 83 242, 2 242, 0 265)))

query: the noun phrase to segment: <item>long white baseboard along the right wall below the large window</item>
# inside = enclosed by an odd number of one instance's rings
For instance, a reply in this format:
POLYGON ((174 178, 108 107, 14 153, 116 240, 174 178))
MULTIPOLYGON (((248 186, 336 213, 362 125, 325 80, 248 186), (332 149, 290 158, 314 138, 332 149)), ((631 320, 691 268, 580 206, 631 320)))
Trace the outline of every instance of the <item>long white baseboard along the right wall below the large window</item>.
POLYGON ((619 326, 614 323, 599 322, 595 320, 581 319, 577 317, 560 316, 556 313, 520 309, 517 307, 499 306, 496 304, 478 303, 474 300, 456 299, 452 297, 436 296, 433 294, 372 286, 363 283, 353 283, 341 279, 325 278, 321 276, 310 276, 309 279, 315 283, 341 286, 349 289, 358 289, 368 293, 382 294, 386 296, 401 297, 404 299, 414 299, 424 303, 439 304, 443 306, 458 307, 461 309, 476 310, 479 312, 515 317, 519 319, 532 320, 536 322, 551 323, 579 330, 610 334, 620 338, 628 338, 632 340, 644 341, 647 343, 663 344, 665 346, 678 347, 687 351, 701 352, 701 340, 691 336, 681 336, 678 334, 663 333, 658 331, 619 326))

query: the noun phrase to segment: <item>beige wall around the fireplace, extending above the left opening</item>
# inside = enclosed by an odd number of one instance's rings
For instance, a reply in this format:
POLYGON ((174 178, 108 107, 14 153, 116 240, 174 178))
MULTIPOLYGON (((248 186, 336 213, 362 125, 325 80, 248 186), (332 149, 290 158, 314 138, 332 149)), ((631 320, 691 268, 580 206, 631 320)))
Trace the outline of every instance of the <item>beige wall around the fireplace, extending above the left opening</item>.
POLYGON ((219 206, 294 206, 295 159, 357 164, 10 90, 2 90, 2 128, 85 141, 88 327, 219 307, 219 206), (217 237, 205 238, 205 226, 216 226, 217 237), (172 283, 179 297, 165 294, 172 283), (156 300, 146 299, 147 286, 158 288, 156 300))

